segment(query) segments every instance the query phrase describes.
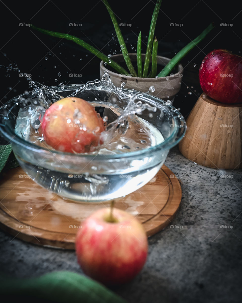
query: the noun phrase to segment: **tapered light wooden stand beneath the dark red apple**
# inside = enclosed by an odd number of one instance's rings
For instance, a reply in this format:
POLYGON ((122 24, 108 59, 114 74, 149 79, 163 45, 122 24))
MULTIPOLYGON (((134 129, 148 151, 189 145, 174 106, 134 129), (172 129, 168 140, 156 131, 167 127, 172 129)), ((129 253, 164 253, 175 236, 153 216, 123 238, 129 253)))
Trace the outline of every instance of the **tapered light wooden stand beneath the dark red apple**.
POLYGON ((187 118, 179 150, 189 160, 208 167, 242 167, 242 104, 222 104, 201 94, 187 118))

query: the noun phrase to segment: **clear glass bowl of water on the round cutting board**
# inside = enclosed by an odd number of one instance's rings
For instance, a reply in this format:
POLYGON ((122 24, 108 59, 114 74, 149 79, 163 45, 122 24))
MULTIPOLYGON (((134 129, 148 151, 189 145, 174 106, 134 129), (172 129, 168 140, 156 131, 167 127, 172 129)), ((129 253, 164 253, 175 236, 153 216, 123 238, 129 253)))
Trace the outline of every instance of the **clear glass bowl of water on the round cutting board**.
MULTIPOLYGON (((57 94, 66 97, 82 85, 53 86, 57 94)), ((130 90, 123 89, 131 92, 130 90)), ((112 96, 107 96, 113 102, 112 96)), ((20 95, 16 98, 19 98, 20 95)), ((77 96, 82 98, 83 96, 77 96)), ((99 98, 100 91, 83 97, 89 102, 99 98)), ((138 99, 157 107, 149 115, 145 110, 139 117, 150 122, 162 134, 164 142, 146 149, 116 155, 73 154, 43 148, 15 134, 19 104, 11 99, 0 119, 0 131, 12 146, 23 170, 36 183, 63 198, 79 202, 100 202, 125 196, 141 188, 163 165, 170 148, 178 144, 186 131, 184 117, 172 105, 144 94, 138 99), (12 103, 11 103, 12 102, 12 103), (165 105, 165 106, 164 106, 165 105)), ((119 104, 120 107, 121 104, 119 104)))

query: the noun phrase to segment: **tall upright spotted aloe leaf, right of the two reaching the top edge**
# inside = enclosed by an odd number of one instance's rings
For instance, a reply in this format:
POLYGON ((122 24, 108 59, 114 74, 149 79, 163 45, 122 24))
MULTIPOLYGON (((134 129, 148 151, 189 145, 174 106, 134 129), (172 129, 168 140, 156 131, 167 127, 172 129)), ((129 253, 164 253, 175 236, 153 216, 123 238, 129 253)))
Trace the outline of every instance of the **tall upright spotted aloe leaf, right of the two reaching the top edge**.
POLYGON ((151 56, 151 51, 152 51, 152 44, 153 44, 154 35, 155 35, 155 25, 156 25, 156 20, 157 20, 158 13, 160 10, 161 2, 162 2, 162 0, 157 0, 153 15, 152 15, 151 23, 150 23, 149 37, 148 37, 147 49, 146 49, 146 58, 145 58, 145 64, 144 64, 144 70, 143 70, 143 78, 146 78, 147 74, 148 74, 150 56, 151 56))

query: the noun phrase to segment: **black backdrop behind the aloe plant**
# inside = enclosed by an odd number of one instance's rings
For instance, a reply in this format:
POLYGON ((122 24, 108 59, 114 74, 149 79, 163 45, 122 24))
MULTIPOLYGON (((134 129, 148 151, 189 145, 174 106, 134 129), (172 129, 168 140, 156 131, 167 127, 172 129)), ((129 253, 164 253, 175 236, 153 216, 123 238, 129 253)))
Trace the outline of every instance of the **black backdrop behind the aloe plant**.
MULTIPOLYGON (((119 23, 132 24, 132 27, 121 28, 128 51, 135 52, 137 36, 141 30, 142 51, 145 53, 155 0, 109 3, 119 23)), ((21 27, 19 23, 31 23, 44 29, 75 35, 106 55, 113 54, 115 50, 117 54, 120 53, 111 18, 102 1, 61 3, 46 0, 11 3, 5 0, 0 2, 0 7, 2 15, 0 65, 16 64, 22 73, 31 74, 34 81, 49 86, 61 82, 86 83, 100 78, 100 59, 74 42, 41 34, 32 28, 21 27), (70 27, 69 23, 80 23, 82 26, 70 27), (69 77, 70 73, 82 74, 82 77, 69 77)), ((210 22, 216 25, 181 62, 184 66, 184 76, 174 106, 181 108, 181 113, 185 117, 202 92, 198 81, 198 69, 205 55, 216 48, 225 48, 240 55, 241 10, 241 5, 231 1, 224 6, 221 2, 203 0, 197 2, 163 0, 155 30, 159 41, 159 55, 172 58, 210 22), (182 27, 171 27, 170 23, 181 23, 182 27), (223 27, 220 26, 221 23, 232 23, 233 26, 223 27)), ((5 68, 0 68, 0 75, 0 105, 29 89, 28 82, 20 78, 15 71, 6 72, 5 68)))

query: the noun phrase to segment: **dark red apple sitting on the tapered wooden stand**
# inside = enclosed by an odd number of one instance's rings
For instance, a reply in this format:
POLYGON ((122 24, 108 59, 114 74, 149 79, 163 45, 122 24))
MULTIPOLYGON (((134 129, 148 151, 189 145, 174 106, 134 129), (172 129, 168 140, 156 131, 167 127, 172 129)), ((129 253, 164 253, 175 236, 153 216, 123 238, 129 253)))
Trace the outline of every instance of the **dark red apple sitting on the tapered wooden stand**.
POLYGON ((199 81, 202 90, 218 102, 242 102, 242 57, 214 49, 202 61, 199 81))

